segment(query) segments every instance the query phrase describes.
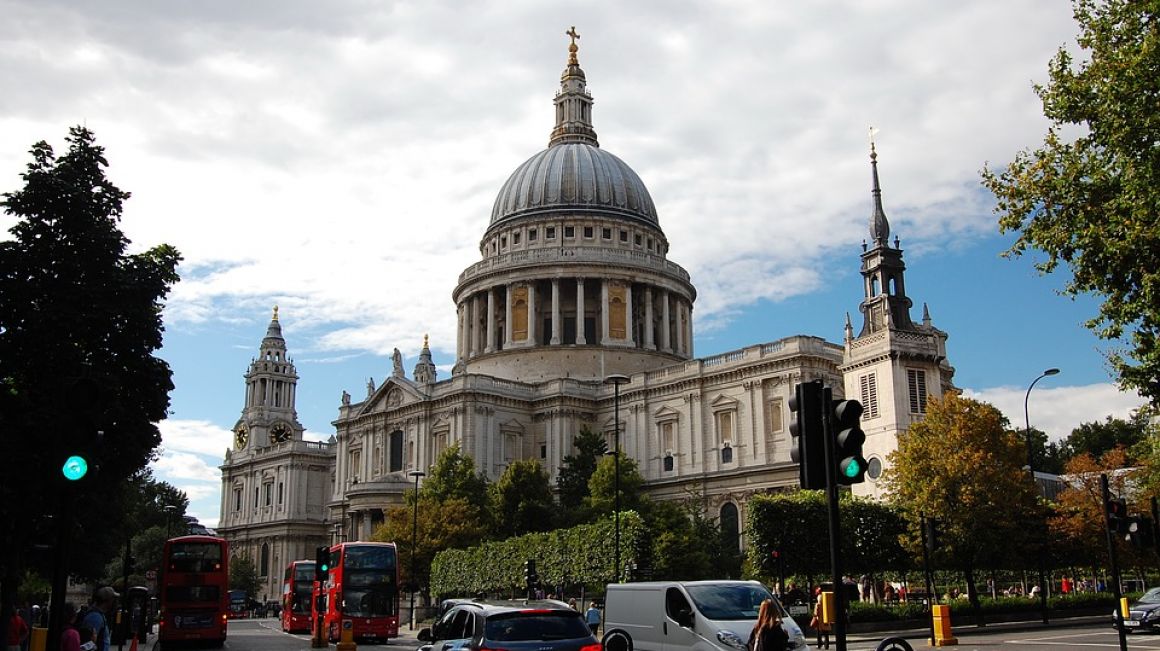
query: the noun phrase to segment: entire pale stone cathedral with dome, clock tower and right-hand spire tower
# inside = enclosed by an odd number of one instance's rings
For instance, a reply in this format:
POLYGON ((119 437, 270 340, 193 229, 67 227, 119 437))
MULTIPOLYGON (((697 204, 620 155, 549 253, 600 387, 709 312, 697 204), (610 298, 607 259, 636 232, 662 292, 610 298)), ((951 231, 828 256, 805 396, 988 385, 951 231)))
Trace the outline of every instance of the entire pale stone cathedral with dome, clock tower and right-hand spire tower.
POLYGON ((450 446, 491 479, 535 458, 554 482, 581 428, 603 433, 609 448, 618 433, 654 499, 695 496, 744 547, 749 497, 798 485, 796 384, 821 379, 865 405, 870 472, 855 492, 869 496, 882 494, 897 434, 952 388, 947 334, 926 306, 921 323, 911 320, 875 153, 861 332, 847 316, 842 343, 796 335, 698 359, 693 280, 668 259, 644 182, 599 144, 574 38, 554 106, 548 147, 503 183, 481 259, 459 275, 450 377, 437 377, 426 339, 409 377, 396 350, 380 385, 368 383, 358 400, 343 392, 329 441, 304 441, 275 311, 222 465, 218 527, 254 559, 264 599, 280 593, 281 567, 314 545, 370 537, 403 504, 411 473, 450 446))

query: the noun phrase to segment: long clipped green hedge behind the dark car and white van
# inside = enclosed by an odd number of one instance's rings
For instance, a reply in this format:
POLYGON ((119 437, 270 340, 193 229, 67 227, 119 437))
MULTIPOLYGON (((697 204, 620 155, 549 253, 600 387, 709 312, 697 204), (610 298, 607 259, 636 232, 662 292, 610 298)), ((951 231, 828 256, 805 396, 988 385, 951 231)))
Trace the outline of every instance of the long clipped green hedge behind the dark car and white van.
MULTIPOLYGON (((523 564, 536 560, 545 586, 586 585, 602 589, 614 580, 611 518, 571 529, 528 534, 488 542, 472 549, 440 552, 432 563, 430 592, 437 596, 464 596, 480 592, 520 594, 523 564)), ((633 512, 621 514, 621 560, 639 563, 647 556, 644 521, 633 512)))

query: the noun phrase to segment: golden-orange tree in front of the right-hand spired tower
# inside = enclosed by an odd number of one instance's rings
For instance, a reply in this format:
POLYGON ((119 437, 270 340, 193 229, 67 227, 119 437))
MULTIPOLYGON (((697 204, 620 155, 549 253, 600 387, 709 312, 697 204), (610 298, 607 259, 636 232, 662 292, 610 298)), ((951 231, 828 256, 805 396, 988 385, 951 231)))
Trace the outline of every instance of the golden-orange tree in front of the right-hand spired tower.
MULTIPOLYGON (((931 398, 926 418, 899 434, 883 475, 892 502, 940 522, 941 558, 966 576, 978 608, 974 572, 1010 564, 1013 550, 1042 535, 1045 514, 1023 463, 1024 442, 986 403, 948 393, 931 398)), ((916 536, 908 540, 918 549, 916 536)), ((1041 538, 1042 540, 1042 538, 1041 538)))

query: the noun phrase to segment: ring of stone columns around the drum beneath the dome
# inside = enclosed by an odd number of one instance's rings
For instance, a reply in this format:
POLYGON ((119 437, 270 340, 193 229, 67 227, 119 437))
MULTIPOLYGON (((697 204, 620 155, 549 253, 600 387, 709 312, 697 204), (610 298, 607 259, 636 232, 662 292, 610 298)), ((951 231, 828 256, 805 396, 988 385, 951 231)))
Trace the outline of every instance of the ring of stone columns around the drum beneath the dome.
POLYGON ((661 287, 585 277, 514 281, 467 294, 457 309, 461 361, 534 346, 622 346, 693 357, 693 304, 661 287))

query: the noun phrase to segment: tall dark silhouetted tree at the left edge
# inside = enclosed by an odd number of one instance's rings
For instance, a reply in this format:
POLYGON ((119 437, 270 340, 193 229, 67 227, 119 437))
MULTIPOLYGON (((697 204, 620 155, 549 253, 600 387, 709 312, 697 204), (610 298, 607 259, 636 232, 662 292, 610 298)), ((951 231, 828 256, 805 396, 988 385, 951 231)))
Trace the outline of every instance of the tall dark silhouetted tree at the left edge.
MULTIPOLYGON (((161 441, 173 388, 161 346, 161 308, 177 281, 180 255, 161 245, 126 254, 117 226, 128 193, 104 175, 92 131, 70 130, 59 158, 41 142, 24 187, 0 205, 16 218, 0 243, 0 521, 58 518, 57 536, 75 540, 71 570, 101 574, 119 543, 126 479, 161 441), (88 475, 61 476, 86 456, 88 475), (66 485, 73 484, 73 485, 66 485)), ((29 528, 0 531, 0 620, 28 560, 29 528)))

